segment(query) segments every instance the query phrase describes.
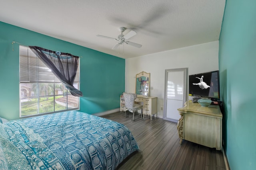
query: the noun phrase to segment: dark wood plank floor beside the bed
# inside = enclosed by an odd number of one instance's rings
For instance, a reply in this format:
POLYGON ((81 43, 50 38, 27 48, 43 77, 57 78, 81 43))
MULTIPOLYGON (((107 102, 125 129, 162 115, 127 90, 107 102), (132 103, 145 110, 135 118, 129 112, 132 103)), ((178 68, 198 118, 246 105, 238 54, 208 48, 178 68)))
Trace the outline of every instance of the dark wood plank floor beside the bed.
POLYGON ((124 112, 102 116, 122 123, 130 129, 142 152, 134 152, 118 166, 118 170, 225 170, 220 150, 183 140, 179 143, 177 123, 124 112))

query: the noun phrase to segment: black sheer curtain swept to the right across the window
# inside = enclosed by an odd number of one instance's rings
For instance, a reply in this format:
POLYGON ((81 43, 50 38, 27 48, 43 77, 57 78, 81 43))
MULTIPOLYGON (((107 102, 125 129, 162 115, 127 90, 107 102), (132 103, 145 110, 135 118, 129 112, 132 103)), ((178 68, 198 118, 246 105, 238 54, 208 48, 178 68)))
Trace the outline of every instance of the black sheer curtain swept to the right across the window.
POLYGON ((41 47, 29 46, 54 75, 64 84, 73 96, 83 96, 82 92, 76 89, 73 84, 78 68, 79 57, 60 51, 51 51, 41 47))

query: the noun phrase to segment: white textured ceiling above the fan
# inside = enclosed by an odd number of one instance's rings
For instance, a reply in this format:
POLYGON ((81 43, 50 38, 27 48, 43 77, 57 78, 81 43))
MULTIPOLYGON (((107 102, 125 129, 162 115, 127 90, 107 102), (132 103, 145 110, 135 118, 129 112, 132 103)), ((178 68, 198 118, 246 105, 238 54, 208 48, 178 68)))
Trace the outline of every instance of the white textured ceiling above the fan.
POLYGON ((0 0, 0 21, 127 59, 218 40, 224 7, 225 0, 0 0), (116 40, 96 36, 117 38, 119 27, 136 31, 128 41, 142 47, 124 44, 118 53, 116 40))

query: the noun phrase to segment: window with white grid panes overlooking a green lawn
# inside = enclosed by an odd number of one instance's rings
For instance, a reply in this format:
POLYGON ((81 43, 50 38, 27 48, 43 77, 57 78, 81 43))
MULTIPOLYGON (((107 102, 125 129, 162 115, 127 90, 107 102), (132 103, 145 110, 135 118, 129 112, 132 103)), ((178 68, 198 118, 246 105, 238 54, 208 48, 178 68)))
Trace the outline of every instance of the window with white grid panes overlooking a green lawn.
MULTIPOLYGON (((77 89, 79 75, 78 66, 77 89)), ((79 98, 70 94, 29 47, 20 45, 20 117, 75 109, 79 109, 79 98)))

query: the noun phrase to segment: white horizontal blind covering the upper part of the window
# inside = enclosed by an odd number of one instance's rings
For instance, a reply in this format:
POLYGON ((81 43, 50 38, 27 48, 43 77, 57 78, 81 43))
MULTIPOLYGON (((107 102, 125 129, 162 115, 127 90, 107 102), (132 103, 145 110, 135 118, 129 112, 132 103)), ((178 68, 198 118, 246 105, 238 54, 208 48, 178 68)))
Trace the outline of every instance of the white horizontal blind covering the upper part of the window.
MULTIPOLYGON (((79 66, 74 82, 79 82, 79 66)), ((60 82, 29 48, 20 45, 20 82, 60 82)))

